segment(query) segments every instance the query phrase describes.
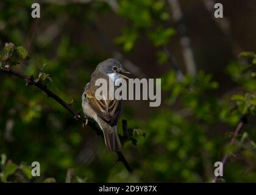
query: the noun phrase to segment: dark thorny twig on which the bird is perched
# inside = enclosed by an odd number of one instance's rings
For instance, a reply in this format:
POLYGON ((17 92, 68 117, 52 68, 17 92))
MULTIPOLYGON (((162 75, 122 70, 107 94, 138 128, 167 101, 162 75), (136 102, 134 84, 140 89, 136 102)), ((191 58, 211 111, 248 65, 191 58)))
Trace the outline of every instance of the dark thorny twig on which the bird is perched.
MULTIPOLYGON (((44 91, 44 93, 46 93, 48 97, 51 97, 52 99, 57 101, 60 105, 62 105, 64 108, 66 108, 66 110, 68 110, 68 112, 71 113, 71 115, 73 115, 75 119, 80 119, 80 121, 84 122, 84 124, 86 123, 86 118, 81 116, 80 112, 76 112, 76 110, 74 110, 71 104, 67 104, 59 96, 57 96, 57 94, 53 93, 46 86, 42 85, 40 82, 36 82, 33 76, 29 76, 29 77, 25 76, 7 67, 1 67, 0 73, 6 73, 12 76, 18 77, 20 79, 24 79, 26 81, 26 85, 35 85, 35 87, 40 88, 40 90, 44 91)), ((88 121, 88 126, 90 126, 96 132, 97 135, 104 137, 101 129, 99 129, 96 126, 95 122, 88 121)), ((123 165, 126 167, 127 171, 129 171, 132 174, 133 173, 132 168, 130 167, 129 163, 127 162, 122 152, 116 152, 116 154, 118 155, 118 161, 121 161, 123 165)))

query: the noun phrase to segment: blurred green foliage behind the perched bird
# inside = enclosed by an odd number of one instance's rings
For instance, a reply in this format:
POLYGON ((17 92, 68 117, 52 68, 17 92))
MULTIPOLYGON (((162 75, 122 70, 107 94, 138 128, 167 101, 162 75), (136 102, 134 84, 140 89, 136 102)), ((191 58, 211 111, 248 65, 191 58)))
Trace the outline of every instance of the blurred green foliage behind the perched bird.
MULTIPOLYGON (((157 49, 157 62, 165 63, 167 57, 161 47, 171 42, 176 32, 166 25, 169 12, 165 1, 118 3, 116 14, 127 23, 114 42, 129 52, 146 35, 157 49)), ((33 74, 60 98, 81 110, 80 96, 85 83, 95 66, 109 56, 81 43, 73 28, 79 24, 86 29, 100 15, 112 12, 111 6, 101 1, 47 1, 41 6, 42 32, 33 32, 31 4, 29 0, 0 2, 1 48, 10 42, 20 46, 2 49, 1 66, 6 65, 5 55, 15 52, 18 57, 13 55, 13 62, 8 62, 12 68, 33 74)), ((176 73, 169 70, 162 76, 164 106, 152 116, 138 119, 134 117, 135 111, 124 106, 122 118, 138 134, 136 147, 134 142, 123 147, 134 169, 133 176, 121 163, 114 163, 115 154, 107 152, 101 138, 74 121, 57 102, 37 88, 27 87, 26 82, 0 74, 1 182, 210 182, 215 161, 220 161, 226 152, 235 154, 224 169, 226 182, 255 182, 256 124, 250 117, 254 117, 256 106, 256 60, 252 52, 244 52, 241 57, 246 57, 249 65, 233 62, 227 66, 235 91, 219 93, 221 83, 204 71, 178 81, 176 73), (227 132, 233 132, 242 115, 248 116, 250 126, 229 147, 227 132), (146 132, 146 138, 139 137, 144 135, 140 129, 146 132), (40 177, 29 174, 32 161, 40 162, 40 177)))

